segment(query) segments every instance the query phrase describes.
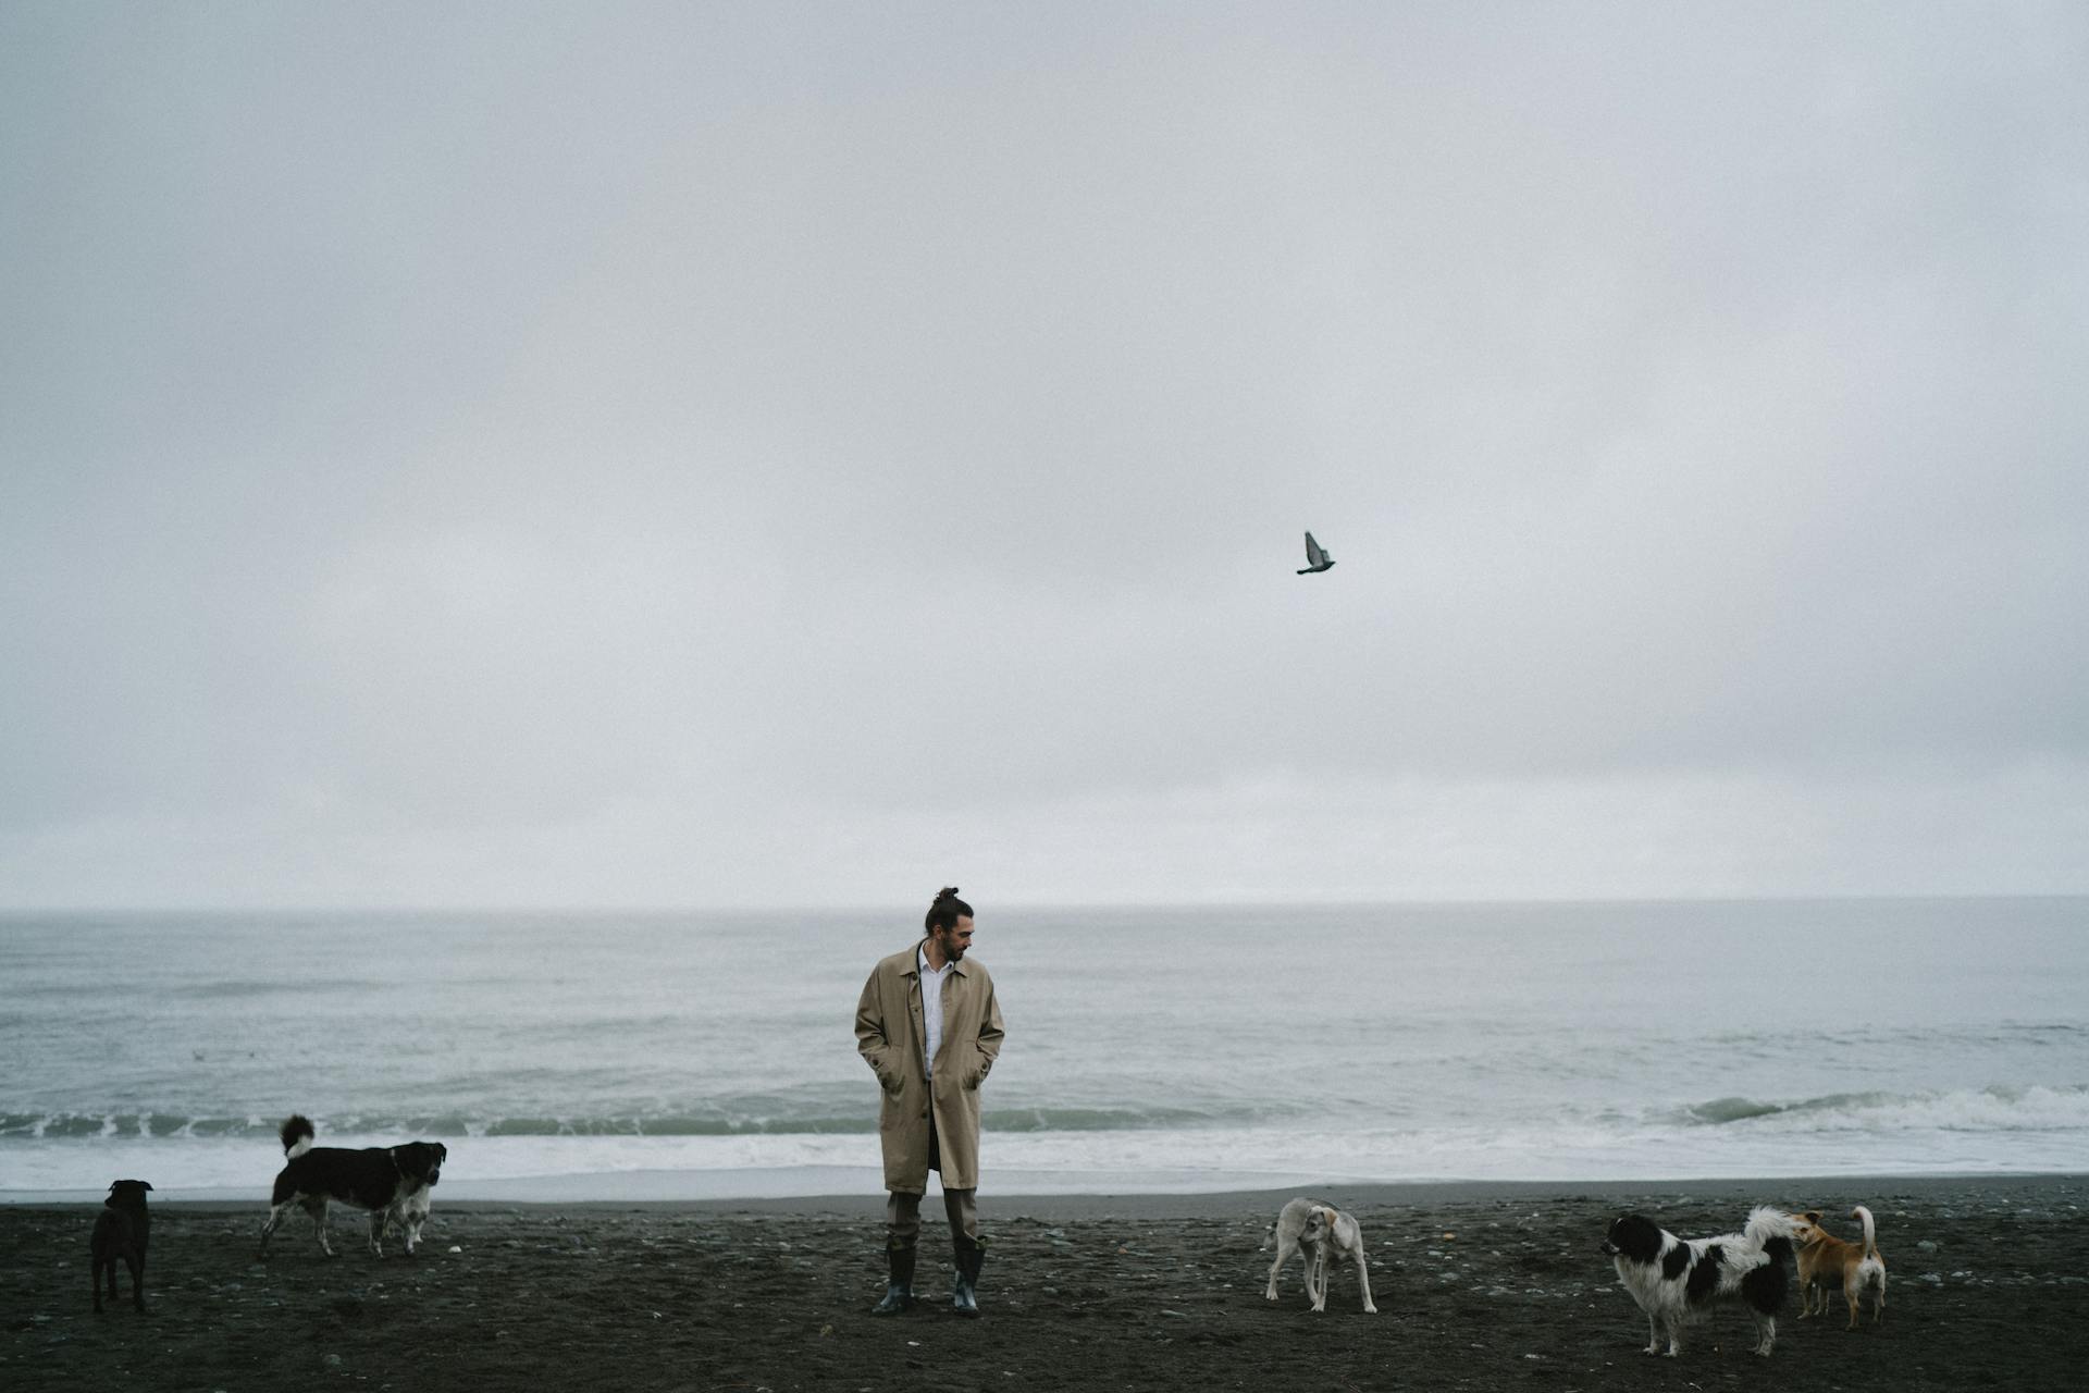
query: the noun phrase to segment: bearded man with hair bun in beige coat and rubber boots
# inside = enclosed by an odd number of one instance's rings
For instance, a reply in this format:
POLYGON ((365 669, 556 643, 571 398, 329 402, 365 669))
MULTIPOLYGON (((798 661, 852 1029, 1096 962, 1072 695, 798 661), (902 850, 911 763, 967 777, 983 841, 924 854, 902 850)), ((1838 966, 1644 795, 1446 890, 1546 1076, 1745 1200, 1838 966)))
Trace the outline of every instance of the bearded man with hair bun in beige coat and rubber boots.
POLYGON ((957 1280, 950 1305, 978 1316, 980 1084, 1001 1053, 994 979, 971 948, 971 906, 948 886, 928 906, 928 938, 871 969, 856 1000, 856 1053, 871 1065, 884 1103, 877 1136, 886 1157, 886 1299, 873 1316, 913 1305, 915 1243, 928 1174, 942 1174, 957 1280))

